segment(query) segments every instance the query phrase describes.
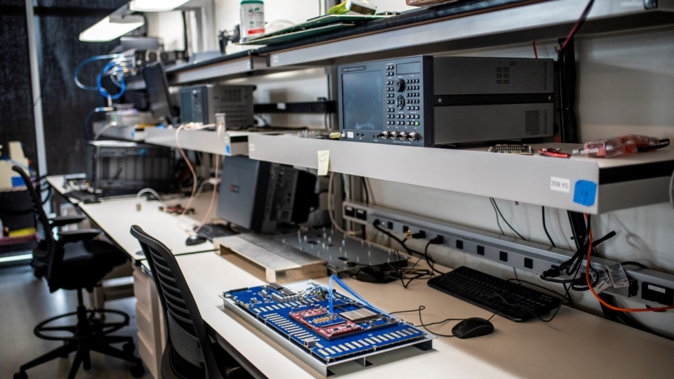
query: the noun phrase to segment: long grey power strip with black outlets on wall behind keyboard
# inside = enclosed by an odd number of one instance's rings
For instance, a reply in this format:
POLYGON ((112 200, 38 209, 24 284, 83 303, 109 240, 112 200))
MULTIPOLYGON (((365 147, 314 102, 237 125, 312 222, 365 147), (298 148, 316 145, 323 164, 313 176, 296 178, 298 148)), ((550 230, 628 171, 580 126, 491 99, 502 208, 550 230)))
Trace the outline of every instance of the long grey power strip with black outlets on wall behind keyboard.
MULTIPOLYGON (((443 237, 443 243, 440 246, 530 272, 541 273, 546 271, 553 265, 560 265, 560 263, 569 260, 575 253, 562 248, 553 248, 536 242, 523 241, 501 234, 456 225, 451 222, 423 218, 418 215, 410 215, 352 201, 343 202, 342 210, 343 217, 347 221, 360 225, 374 225, 374 222, 379 221, 383 229, 392 233, 411 232, 414 234, 424 232, 426 239, 432 239, 440 235, 443 237)), ((602 270, 615 263, 615 261, 599 257, 592 259, 593 267, 597 270, 602 270)), ((583 262, 581 265, 583 272, 585 266, 585 262, 583 262)), ((660 307, 667 304, 670 294, 674 291, 674 275, 631 266, 625 267, 624 270, 630 279, 630 286, 608 288, 604 293, 651 307, 660 307), (666 300, 664 300, 666 302, 649 300, 652 298, 653 286, 666 292, 666 300)))

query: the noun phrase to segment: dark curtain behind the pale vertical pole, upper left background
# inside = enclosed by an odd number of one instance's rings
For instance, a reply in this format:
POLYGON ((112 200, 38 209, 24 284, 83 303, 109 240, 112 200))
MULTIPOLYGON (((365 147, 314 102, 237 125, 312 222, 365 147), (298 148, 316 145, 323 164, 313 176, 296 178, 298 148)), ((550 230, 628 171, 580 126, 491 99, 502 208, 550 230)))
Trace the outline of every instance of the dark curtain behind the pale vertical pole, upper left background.
MULTIPOLYGON (((119 40, 105 43, 79 41, 79 33, 95 24, 125 0, 40 0, 35 8, 37 48, 48 173, 84 172, 86 114, 100 105, 100 96, 78 88, 75 67, 93 55, 109 53, 119 40)), ((20 140, 37 168, 32 109, 25 2, 0 0, 0 144, 20 140)), ((105 63, 93 63, 81 72, 85 84, 105 63)))

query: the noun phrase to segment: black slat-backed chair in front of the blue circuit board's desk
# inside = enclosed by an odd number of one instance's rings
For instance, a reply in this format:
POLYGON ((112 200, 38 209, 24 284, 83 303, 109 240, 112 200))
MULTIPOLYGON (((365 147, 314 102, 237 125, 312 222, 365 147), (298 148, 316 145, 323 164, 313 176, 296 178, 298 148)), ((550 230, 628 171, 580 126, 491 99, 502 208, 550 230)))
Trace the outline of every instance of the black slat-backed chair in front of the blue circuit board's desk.
POLYGON ((150 265, 169 329, 161 357, 161 378, 252 378, 217 343, 211 343, 197 303, 169 248, 138 225, 131 227, 131 234, 140 242, 150 265))

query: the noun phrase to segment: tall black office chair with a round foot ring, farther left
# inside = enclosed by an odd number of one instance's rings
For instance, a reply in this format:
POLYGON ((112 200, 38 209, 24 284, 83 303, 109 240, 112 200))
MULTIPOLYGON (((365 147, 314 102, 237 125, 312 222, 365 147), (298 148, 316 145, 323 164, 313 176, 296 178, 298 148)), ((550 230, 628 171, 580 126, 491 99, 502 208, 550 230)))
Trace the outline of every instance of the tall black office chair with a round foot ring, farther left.
POLYGON ((59 222, 50 222, 47 218, 44 208, 42 208, 40 196, 23 169, 13 166, 12 170, 19 173, 23 182, 25 182, 37 218, 37 225, 41 230, 41 241, 35 248, 34 254, 39 257, 41 265, 44 265, 41 266, 44 270, 42 274, 47 280, 49 291, 54 292, 58 289, 77 291, 76 312, 46 319, 37 324, 33 331, 38 338, 63 341, 63 345, 22 365, 19 372, 14 374, 14 379, 26 379, 28 377, 26 370, 29 368, 58 357, 66 358, 71 352, 77 352, 68 374, 68 378, 72 379, 77 374, 79 366, 84 366, 84 370, 91 369, 89 353, 92 351, 130 361, 134 364, 131 368, 131 375, 140 378, 145 373, 145 368, 140 359, 133 356, 133 350, 135 349, 133 338, 108 335, 128 326, 128 314, 116 310, 86 310, 82 296, 82 289, 86 288, 87 291, 91 292, 93 287, 105 277, 105 274, 112 271, 113 267, 124 264, 126 257, 114 246, 93 239, 99 234, 98 230, 60 232, 59 239, 56 240, 51 229, 59 225, 59 222), (114 323, 92 322, 88 316, 93 314, 117 314, 124 321, 114 323), (77 316, 77 324, 75 325, 50 326, 53 321, 73 316, 77 316), (53 332, 58 333, 58 335, 53 335, 53 332), (72 333, 72 335, 64 336, 64 333, 72 333), (125 344, 124 351, 110 346, 117 343, 125 344))

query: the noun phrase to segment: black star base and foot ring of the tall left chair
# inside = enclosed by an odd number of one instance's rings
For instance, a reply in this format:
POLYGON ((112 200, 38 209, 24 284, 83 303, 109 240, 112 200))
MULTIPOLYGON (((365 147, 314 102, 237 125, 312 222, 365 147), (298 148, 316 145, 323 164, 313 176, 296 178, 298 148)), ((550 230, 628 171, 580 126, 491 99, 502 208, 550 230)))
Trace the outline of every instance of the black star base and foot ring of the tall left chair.
POLYGON ((45 362, 56 358, 67 358, 72 352, 76 352, 76 354, 72 366, 70 367, 70 373, 68 373, 68 379, 73 379, 75 377, 80 366, 82 366, 85 371, 91 370, 91 352, 100 352, 109 355, 110 357, 129 361, 134 364, 134 366, 131 367, 131 375, 133 375, 134 378, 143 376, 145 373, 143 362, 140 358, 133 355, 133 350, 136 349, 133 345, 133 338, 121 335, 108 335, 128 325, 128 314, 114 310, 86 310, 81 289, 77 290, 77 300, 79 302, 77 312, 51 317, 50 319, 42 321, 34 329, 34 333, 37 337, 45 340, 62 340, 64 341, 63 345, 22 365, 19 368, 19 372, 14 374, 14 379, 27 379, 28 375, 26 374, 26 370, 29 368, 44 364, 45 362), (107 324, 91 322, 91 319, 93 319, 91 315, 102 312, 104 314, 106 312, 119 314, 124 317, 124 321, 107 324), (64 317, 72 317, 74 315, 77 315, 76 325, 47 326, 55 320, 64 317), (43 333, 49 331, 69 332, 72 333, 72 337, 51 336, 43 333), (122 350, 110 346, 117 343, 124 343, 122 350))

